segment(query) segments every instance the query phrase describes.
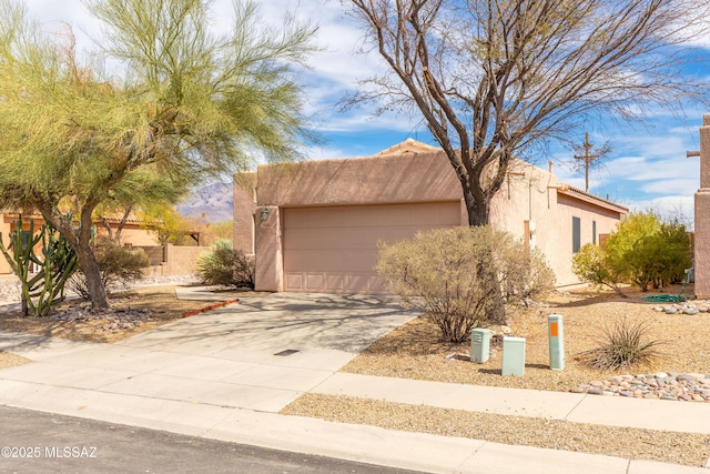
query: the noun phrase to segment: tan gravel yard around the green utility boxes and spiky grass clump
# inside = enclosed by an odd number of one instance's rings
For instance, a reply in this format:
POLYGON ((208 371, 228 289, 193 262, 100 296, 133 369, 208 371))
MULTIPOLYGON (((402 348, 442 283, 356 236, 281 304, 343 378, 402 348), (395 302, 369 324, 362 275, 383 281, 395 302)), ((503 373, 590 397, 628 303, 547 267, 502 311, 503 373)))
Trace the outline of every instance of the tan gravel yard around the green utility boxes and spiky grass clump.
MULTIPOLYGON (((678 294, 680 286, 666 289, 666 294, 678 294)), ((501 376, 501 350, 491 340, 488 362, 470 362, 470 344, 448 344, 440 340, 440 331, 426 317, 417 317, 377 341, 343 371, 366 375, 394 376, 438 382, 517 389, 569 391, 579 383, 618 375, 618 372, 592 370, 577 360, 604 339, 605 326, 627 319, 629 323, 645 322, 648 339, 663 341, 660 356, 647 366, 633 366, 621 373, 710 373, 710 313, 666 314, 653 306, 668 303, 648 303, 641 293, 627 289, 628 297, 616 293, 576 292, 554 294, 530 307, 509 309, 511 335, 526 339, 525 376, 501 376), (565 370, 549 369, 548 316, 562 315, 565 370)), ((692 289, 686 289, 692 294, 692 289)), ((493 327, 500 333, 501 327, 493 327)))

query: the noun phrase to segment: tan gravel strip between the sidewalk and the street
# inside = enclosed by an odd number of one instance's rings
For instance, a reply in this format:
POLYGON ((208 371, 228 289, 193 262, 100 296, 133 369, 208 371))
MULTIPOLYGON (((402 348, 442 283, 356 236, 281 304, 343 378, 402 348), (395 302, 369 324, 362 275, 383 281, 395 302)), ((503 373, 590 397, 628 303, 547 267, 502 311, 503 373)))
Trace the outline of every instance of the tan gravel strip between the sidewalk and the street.
MULTIPOLYGON (((678 402, 668 402, 678 403, 678 402)), ((710 436, 305 394, 282 412, 388 430, 704 466, 710 436)))

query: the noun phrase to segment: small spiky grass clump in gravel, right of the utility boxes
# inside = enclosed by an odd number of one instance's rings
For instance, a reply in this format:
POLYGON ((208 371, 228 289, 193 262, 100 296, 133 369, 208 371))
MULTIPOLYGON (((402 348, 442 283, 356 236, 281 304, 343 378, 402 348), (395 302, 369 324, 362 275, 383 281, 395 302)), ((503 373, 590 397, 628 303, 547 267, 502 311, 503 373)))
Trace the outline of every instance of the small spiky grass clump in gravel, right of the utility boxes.
POLYGON ((585 351, 577 359, 599 370, 621 370, 651 363, 660 355, 658 346, 663 341, 648 336, 648 322, 631 323, 626 317, 613 327, 605 327, 599 345, 585 351))

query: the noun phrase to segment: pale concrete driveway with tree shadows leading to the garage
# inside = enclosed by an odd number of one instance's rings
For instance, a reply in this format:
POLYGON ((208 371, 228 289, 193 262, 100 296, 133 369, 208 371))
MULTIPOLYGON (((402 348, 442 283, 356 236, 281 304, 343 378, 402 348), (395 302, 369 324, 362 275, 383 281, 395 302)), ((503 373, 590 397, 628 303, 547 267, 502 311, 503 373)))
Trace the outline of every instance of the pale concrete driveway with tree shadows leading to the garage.
POLYGON ((0 371, 0 403, 41 396, 71 413, 150 399, 276 413, 413 316, 390 296, 276 293, 114 344, 0 333, 0 350, 37 361, 0 371))

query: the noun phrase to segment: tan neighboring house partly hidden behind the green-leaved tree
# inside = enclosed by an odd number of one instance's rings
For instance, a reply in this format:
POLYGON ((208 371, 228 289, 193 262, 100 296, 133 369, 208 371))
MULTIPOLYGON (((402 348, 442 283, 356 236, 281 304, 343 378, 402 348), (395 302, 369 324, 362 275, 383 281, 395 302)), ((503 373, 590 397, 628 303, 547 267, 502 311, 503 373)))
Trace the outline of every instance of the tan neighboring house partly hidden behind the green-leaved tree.
MULTIPOLYGON (((44 219, 38 214, 31 216, 22 215, 22 223, 26 231, 29 231, 30 229, 30 219, 34 222, 36 232, 38 232, 44 224, 44 219)), ((9 235, 10 232, 16 230, 14 223, 17 220, 18 213, 0 213, 0 234, 2 235, 2 242, 6 245, 10 243, 9 235)), ((108 235, 109 230, 105 225, 108 224, 111 228, 112 233, 115 233, 121 224, 121 219, 109 218, 104 221, 97 221, 94 224, 97 226, 98 235, 108 235)), ((156 232, 142 225, 142 223, 134 218, 129 218, 129 220, 123 224, 121 230, 121 243, 123 245, 132 246, 159 245, 156 232)), ((9 273, 12 273, 10 265, 6 262, 4 258, 0 255, 0 274, 9 273)))

